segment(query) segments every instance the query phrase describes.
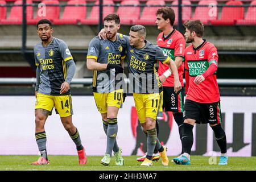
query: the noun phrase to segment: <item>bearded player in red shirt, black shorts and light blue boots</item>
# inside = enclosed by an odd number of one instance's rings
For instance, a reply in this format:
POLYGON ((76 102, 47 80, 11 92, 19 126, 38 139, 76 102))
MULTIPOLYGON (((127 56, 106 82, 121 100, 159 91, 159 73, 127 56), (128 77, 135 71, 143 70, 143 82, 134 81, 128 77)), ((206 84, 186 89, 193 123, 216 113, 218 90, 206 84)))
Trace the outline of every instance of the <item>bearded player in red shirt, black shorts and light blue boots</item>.
POLYGON ((183 154, 174 158, 176 164, 189 165, 193 145, 193 126, 195 123, 209 123, 218 146, 221 149, 219 165, 228 164, 226 154, 226 134, 220 123, 221 107, 216 71, 218 53, 212 43, 203 39, 204 25, 200 20, 184 23, 185 40, 192 43, 185 49, 185 100, 182 147, 183 154))

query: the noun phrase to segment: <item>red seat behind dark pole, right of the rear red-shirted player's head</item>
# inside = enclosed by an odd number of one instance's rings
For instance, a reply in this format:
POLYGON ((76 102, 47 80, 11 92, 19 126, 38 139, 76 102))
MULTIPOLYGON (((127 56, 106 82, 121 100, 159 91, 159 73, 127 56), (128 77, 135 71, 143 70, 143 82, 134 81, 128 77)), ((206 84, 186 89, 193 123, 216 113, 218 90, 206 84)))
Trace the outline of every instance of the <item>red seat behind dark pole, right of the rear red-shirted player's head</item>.
MULTIPOLYGON (((172 2, 172 6, 173 5, 178 5, 179 2, 176 0, 174 2, 172 2)), ((183 0, 182 1, 182 4, 183 5, 191 5, 191 2, 190 1, 187 1, 187 0, 183 0)), ((178 22, 178 7, 172 7, 172 9, 174 9, 174 12, 175 12, 175 21, 174 21, 174 24, 177 24, 178 22)), ((190 20, 191 19, 191 7, 183 7, 182 8, 182 22, 185 22, 186 20, 190 20)))

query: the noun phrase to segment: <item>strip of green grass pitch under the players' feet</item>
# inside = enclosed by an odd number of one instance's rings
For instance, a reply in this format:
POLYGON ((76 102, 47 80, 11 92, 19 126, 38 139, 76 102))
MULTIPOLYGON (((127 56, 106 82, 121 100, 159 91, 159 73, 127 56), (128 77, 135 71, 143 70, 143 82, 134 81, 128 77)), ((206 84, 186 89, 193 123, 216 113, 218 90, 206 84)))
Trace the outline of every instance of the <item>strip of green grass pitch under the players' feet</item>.
MULTIPOLYGON (((229 157, 228 166, 210 165, 208 156, 191 156, 191 166, 180 166, 171 162, 174 156, 168 156, 170 159, 169 166, 163 166, 161 159, 153 162, 151 167, 141 167, 137 162, 137 156, 124 156, 125 166, 115 166, 114 156, 109 166, 102 166, 100 160, 102 156, 88 156, 86 165, 78 164, 78 157, 72 155, 49 155, 50 163, 47 166, 32 166, 30 163, 35 162, 38 156, 34 155, 1 155, 0 171, 256 171, 256 157, 238 158, 229 157)), ((217 157, 217 163, 220 158, 217 157)))

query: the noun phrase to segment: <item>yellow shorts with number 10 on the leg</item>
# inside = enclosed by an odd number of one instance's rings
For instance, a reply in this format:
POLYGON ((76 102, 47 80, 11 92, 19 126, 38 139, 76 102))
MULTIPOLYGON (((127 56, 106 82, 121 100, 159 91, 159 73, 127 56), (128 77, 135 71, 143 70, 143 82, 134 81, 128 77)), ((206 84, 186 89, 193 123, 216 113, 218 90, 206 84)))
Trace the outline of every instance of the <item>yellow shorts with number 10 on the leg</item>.
POLYGON ((114 90, 110 93, 93 92, 98 111, 101 114, 108 112, 108 106, 120 108, 123 103, 123 89, 114 90))

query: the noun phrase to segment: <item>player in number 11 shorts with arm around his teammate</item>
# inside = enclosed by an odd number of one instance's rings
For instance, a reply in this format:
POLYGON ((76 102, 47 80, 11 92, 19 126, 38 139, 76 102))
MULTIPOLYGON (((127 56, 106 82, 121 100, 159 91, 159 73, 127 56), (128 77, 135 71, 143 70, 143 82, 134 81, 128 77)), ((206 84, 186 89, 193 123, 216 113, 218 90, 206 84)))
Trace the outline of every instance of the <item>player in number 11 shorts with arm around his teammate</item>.
POLYGON ((130 88, 133 90, 139 122, 147 135, 147 155, 141 166, 152 165, 152 155, 155 147, 162 158, 162 164, 168 166, 167 148, 160 144, 155 127, 156 116, 160 107, 162 107, 162 83, 155 69, 157 61, 169 65, 174 73, 174 90, 176 93, 181 89, 181 84, 174 61, 164 54, 162 49, 148 42, 145 38, 146 28, 144 26, 132 26, 126 55, 129 72, 132 73, 132 76, 129 75, 129 91, 130 88), (154 92, 151 92, 151 89, 154 92))

